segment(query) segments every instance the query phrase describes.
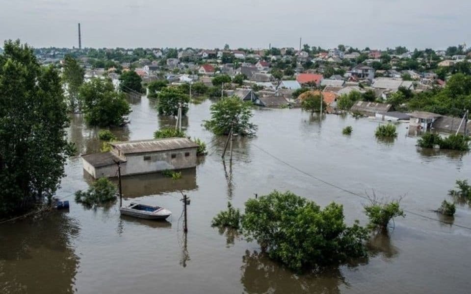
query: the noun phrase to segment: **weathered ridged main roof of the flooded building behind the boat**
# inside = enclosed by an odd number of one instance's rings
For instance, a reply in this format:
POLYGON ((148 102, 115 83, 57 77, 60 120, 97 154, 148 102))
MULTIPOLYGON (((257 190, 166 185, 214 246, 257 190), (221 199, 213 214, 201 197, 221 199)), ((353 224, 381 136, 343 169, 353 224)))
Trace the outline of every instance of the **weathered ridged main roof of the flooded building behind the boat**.
POLYGON ((128 142, 113 142, 111 146, 122 154, 157 152, 183 148, 196 148, 198 145, 188 138, 165 138, 128 142))

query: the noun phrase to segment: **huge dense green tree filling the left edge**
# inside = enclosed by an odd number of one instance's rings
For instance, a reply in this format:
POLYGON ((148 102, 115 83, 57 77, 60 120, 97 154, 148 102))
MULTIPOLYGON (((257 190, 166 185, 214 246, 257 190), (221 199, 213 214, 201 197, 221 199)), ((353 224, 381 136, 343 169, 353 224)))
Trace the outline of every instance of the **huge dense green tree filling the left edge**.
POLYGON ((72 145, 58 72, 33 49, 6 41, 0 54, 0 218, 51 200, 72 145))

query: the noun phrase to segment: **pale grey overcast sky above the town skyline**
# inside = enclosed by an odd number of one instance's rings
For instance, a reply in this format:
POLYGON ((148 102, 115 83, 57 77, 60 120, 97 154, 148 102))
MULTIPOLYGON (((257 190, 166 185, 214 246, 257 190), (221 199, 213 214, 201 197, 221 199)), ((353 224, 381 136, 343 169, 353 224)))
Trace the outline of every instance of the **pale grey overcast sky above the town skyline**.
POLYGON ((470 0, 0 0, 0 40, 34 47, 471 46, 470 0))

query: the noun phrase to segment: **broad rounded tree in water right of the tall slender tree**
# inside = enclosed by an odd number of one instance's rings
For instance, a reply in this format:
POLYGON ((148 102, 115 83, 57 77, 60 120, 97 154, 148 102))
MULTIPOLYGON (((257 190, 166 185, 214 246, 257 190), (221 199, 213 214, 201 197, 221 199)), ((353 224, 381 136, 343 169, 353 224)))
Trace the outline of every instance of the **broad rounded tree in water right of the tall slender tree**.
POLYGON ((131 107, 125 94, 116 92, 110 80, 93 78, 80 87, 79 95, 89 125, 113 126, 127 122, 131 107))

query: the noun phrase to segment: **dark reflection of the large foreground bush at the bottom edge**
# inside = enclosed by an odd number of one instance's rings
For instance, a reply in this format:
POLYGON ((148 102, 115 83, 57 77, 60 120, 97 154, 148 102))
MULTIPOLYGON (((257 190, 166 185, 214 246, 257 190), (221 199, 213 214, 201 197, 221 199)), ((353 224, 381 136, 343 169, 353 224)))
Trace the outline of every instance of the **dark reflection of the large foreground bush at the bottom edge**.
POLYGON ((247 293, 339 294, 346 284, 339 267, 298 275, 257 251, 246 251, 242 262, 240 282, 247 293))

